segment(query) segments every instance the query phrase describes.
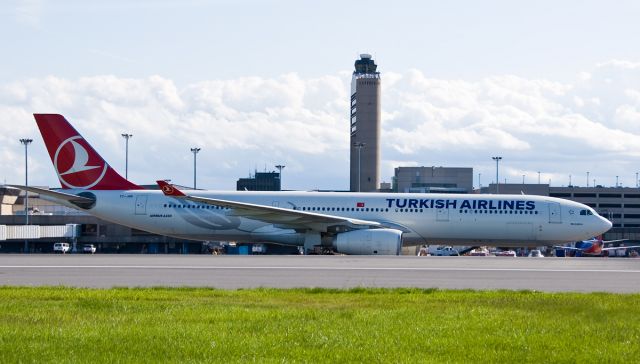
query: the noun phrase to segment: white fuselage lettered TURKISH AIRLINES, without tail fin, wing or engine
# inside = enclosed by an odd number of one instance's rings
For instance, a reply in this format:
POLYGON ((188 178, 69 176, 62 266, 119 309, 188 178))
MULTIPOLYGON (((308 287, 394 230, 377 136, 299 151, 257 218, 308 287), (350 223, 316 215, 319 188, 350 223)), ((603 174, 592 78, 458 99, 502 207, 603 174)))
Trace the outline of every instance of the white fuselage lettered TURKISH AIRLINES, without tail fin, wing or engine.
MULTIPOLYGON (((304 242, 304 231, 265 223, 259 216, 242 216, 233 209, 165 196, 161 191, 84 192, 96 197, 95 206, 85 210, 88 213, 156 234, 192 240, 304 242)), ((407 245, 549 245, 585 240, 611 227, 588 206, 545 196, 248 191, 190 194, 375 221, 403 231, 402 240, 407 245), (583 210, 590 213, 581 214, 583 210)))

